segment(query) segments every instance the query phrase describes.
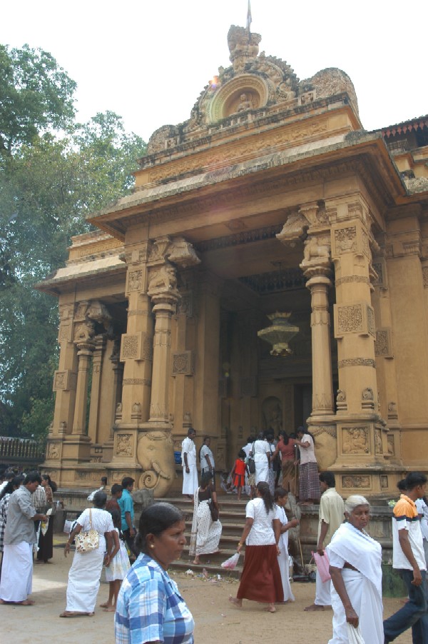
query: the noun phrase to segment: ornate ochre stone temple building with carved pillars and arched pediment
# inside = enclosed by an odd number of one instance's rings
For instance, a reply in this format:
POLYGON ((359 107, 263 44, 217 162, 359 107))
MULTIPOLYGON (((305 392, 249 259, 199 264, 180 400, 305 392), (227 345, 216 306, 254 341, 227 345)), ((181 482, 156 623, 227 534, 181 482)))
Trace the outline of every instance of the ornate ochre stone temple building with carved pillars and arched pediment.
POLYGON ((180 490, 190 426, 222 470, 305 425, 344 495, 427 471, 428 116, 365 131, 347 74, 299 81, 260 39, 230 27, 231 66, 37 286, 59 306, 59 485, 180 490))

